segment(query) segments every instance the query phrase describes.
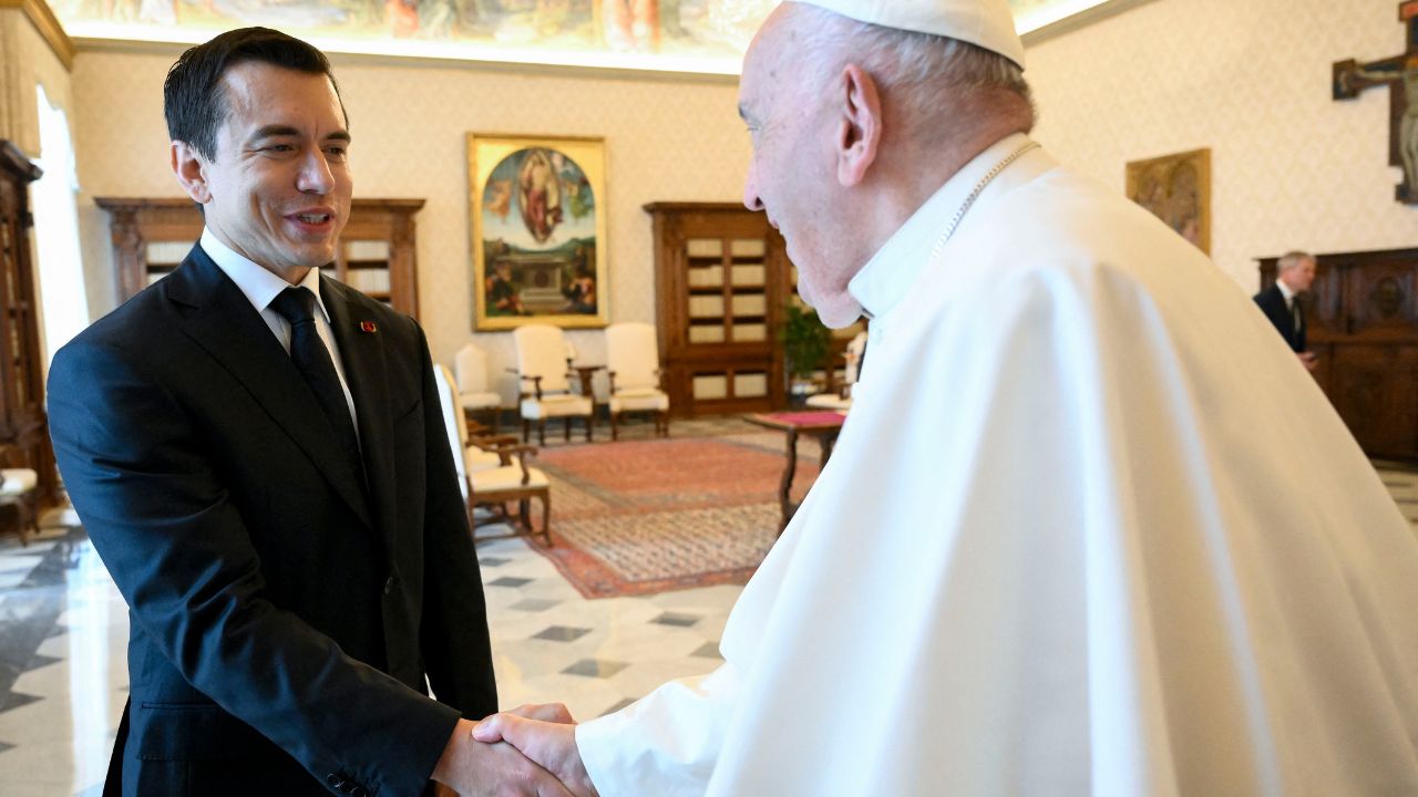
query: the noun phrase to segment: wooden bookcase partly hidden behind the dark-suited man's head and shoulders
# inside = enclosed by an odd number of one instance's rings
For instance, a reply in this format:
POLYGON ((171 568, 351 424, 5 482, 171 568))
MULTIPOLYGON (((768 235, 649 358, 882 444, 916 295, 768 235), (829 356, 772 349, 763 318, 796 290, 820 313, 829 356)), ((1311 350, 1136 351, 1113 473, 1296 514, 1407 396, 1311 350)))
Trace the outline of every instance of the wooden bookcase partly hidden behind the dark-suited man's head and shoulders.
MULTIPOLYGON (((94 200, 109 213, 119 301, 177 268, 201 237, 201 213, 186 199, 94 200)), ((420 199, 357 199, 340 235, 332 277, 418 318, 414 214, 420 199)))

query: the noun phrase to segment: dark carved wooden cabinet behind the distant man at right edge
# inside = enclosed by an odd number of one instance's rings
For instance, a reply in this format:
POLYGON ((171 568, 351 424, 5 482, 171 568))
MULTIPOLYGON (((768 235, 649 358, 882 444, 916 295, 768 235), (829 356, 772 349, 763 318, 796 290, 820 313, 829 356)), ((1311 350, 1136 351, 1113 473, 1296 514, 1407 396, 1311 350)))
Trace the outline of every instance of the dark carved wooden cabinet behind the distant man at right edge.
MULTIPOLYGON (((1261 260, 1261 288, 1278 258, 1261 260)), ((1418 248, 1316 257, 1314 379, 1370 457, 1418 461, 1418 248)))

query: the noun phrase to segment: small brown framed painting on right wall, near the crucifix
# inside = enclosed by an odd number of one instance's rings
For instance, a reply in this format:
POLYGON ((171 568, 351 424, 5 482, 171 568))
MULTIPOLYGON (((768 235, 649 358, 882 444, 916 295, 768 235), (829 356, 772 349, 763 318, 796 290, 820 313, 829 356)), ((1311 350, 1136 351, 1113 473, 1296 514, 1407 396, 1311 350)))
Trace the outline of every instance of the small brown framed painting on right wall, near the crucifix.
POLYGON ((1211 254, 1211 150, 1194 149, 1127 165, 1127 199, 1211 254))

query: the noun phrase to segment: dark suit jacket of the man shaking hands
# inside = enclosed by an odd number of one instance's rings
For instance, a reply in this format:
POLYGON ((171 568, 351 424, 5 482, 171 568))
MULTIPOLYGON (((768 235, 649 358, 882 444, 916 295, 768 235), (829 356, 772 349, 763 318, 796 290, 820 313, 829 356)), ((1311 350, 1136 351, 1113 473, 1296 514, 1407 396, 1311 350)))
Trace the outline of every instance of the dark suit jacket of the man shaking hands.
POLYGON ((54 357, 60 471, 130 610, 111 790, 420 794, 457 718, 496 710, 423 332, 320 295, 364 474, 200 247, 54 357))

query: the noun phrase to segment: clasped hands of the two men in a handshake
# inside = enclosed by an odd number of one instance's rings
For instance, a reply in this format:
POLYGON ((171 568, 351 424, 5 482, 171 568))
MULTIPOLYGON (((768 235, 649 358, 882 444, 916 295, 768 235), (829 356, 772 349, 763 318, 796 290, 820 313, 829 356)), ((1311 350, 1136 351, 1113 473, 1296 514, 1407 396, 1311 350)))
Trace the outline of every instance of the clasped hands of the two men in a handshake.
POLYGON ((474 723, 459 719, 438 766, 435 794, 596 797, 562 703, 526 705, 474 723))

